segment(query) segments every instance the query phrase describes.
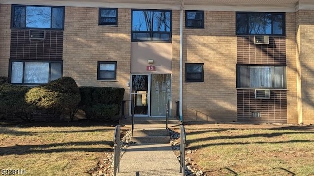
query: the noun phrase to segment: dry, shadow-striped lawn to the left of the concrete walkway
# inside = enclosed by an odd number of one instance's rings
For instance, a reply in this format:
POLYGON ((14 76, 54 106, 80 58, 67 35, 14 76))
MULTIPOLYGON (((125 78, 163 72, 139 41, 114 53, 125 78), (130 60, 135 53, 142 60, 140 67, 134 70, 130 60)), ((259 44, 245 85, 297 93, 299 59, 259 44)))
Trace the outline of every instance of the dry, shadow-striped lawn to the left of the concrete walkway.
POLYGON ((114 126, 71 123, 63 127, 1 126, 0 169, 25 169, 26 176, 89 176, 87 169, 113 151, 113 132, 114 126))

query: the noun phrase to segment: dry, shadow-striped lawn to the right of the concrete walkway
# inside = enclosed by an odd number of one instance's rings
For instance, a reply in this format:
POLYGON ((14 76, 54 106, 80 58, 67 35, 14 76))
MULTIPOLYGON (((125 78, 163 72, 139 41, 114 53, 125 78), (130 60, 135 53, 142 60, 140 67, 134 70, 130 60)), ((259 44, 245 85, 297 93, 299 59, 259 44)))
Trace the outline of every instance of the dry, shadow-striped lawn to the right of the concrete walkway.
POLYGON ((314 176, 314 126, 187 125, 187 150, 208 176, 314 176))

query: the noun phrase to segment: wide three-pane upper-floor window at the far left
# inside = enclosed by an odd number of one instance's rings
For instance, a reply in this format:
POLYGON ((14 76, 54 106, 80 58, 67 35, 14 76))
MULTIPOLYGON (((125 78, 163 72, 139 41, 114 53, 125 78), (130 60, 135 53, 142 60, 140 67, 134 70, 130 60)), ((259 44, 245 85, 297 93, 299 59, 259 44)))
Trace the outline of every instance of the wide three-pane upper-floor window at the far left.
POLYGON ((12 5, 15 29, 63 29, 64 7, 12 5))

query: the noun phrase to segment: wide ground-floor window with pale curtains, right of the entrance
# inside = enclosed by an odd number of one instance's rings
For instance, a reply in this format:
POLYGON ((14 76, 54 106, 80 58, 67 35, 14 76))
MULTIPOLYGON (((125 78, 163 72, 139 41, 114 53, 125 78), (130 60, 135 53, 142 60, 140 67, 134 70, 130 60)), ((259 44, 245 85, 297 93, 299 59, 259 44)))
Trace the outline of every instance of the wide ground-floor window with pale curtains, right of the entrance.
POLYGON ((286 88, 286 66, 237 65, 237 88, 286 88))

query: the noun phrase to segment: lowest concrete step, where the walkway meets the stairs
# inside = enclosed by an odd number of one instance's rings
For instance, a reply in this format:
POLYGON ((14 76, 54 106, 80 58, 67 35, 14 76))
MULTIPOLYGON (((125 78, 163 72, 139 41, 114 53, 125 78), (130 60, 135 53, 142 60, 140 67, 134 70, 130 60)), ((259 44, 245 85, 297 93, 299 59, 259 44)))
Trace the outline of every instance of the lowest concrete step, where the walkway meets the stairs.
POLYGON ((131 141, 139 144, 167 144, 170 142, 169 136, 134 136, 131 141))

